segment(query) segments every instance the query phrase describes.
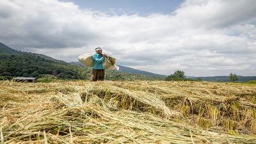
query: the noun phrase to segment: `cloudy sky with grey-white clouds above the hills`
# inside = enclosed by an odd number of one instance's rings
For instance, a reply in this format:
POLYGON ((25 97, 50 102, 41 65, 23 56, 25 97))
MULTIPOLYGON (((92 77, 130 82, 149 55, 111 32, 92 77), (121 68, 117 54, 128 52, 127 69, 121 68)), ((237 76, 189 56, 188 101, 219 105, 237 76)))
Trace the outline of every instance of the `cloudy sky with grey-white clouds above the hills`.
POLYGON ((255 0, 1 0, 0 42, 64 61, 103 47, 120 65, 256 76, 255 0))

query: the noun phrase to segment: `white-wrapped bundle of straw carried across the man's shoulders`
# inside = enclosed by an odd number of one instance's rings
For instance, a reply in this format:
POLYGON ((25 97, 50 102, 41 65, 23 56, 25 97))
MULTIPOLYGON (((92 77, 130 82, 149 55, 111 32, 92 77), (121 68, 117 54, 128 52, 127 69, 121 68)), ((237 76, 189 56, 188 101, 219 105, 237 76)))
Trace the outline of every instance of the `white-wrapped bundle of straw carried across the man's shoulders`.
MULTIPOLYGON (((86 65, 87 67, 93 66, 93 60, 92 60, 93 53, 87 53, 87 54, 81 54, 78 56, 78 60, 86 65)), ((104 61, 104 67, 109 70, 119 70, 119 67, 116 66, 116 59, 108 56, 106 60, 104 61)))

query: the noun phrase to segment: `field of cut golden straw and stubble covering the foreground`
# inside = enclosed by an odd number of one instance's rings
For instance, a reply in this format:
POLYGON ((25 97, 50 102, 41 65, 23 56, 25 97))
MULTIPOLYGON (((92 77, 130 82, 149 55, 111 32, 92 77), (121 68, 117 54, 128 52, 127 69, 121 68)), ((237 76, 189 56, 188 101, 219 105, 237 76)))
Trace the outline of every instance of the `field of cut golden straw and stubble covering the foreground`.
POLYGON ((256 84, 0 81, 1 143, 256 143, 256 84))

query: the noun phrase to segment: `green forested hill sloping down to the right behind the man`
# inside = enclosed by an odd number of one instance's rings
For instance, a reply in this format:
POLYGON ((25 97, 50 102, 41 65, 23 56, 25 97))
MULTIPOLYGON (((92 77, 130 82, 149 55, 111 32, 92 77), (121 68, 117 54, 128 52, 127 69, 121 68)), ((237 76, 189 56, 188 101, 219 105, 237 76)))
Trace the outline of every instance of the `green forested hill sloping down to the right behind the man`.
MULTIPOLYGON (((91 68, 72 65, 43 54, 21 52, 0 43, 0 76, 42 77, 52 75, 62 79, 90 79, 91 68)), ((108 80, 159 79, 140 74, 106 71, 108 80)))

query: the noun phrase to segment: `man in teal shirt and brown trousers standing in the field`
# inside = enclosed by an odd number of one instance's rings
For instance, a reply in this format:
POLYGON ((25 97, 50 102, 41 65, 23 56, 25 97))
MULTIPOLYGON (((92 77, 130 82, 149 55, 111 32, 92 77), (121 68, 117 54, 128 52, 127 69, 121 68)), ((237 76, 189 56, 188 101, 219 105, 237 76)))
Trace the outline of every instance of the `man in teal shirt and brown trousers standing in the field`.
POLYGON ((92 81, 104 81, 105 67, 103 65, 107 55, 102 54, 102 49, 97 47, 95 54, 92 56, 93 67, 92 67, 92 81))

